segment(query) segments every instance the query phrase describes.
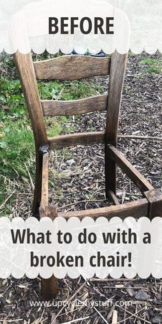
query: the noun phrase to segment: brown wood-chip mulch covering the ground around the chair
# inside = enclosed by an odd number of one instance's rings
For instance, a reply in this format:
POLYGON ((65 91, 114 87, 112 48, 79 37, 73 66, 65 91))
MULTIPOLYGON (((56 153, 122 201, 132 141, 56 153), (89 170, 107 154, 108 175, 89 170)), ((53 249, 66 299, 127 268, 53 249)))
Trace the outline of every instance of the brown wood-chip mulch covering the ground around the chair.
MULTIPOLYGON (((148 56, 147 54, 141 54, 148 56)), ((159 58, 160 54, 148 56, 159 58)), ((143 73, 141 56, 129 56, 119 121, 118 148, 137 170, 156 188, 162 187, 161 74, 143 73), (129 135, 131 138, 124 138, 129 135), (132 138, 140 137, 140 138, 132 138), (148 137, 145 139, 144 137, 148 137), (151 139, 154 137, 155 139, 151 139)), ((106 91, 108 78, 93 78, 106 91)), ((104 130, 106 114, 89 113, 75 117, 69 126, 77 132, 104 130)), ((50 204, 59 211, 91 209, 110 205, 104 196, 104 148, 79 146, 51 152, 50 204)), ((32 184, 17 196, 13 215, 31 216, 32 184)), ((117 170, 117 196, 120 203, 137 200, 141 194, 129 179, 117 170)), ((0 323, 20 324, 111 324, 117 311, 117 323, 162 323, 162 279, 90 279, 66 277, 59 282, 56 301, 73 301, 60 308, 54 304, 31 305, 42 301, 40 278, 0 280, 0 323), (109 301, 109 302, 108 302, 109 301), (112 303, 111 303, 112 301, 112 303), (102 302, 101 304, 99 302, 102 302), (131 303, 130 303, 131 302, 131 303), (78 305, 79 303, 79 305, 78 305)), ((115 322, 116 323, 116 322, 115 322)))

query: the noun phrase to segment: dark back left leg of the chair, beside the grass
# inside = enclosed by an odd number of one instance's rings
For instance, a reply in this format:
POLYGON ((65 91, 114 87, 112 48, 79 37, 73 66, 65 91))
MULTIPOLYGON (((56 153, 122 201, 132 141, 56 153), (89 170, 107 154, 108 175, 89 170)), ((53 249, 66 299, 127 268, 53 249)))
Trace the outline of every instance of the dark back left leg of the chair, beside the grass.
POLYGON ((43 170, 43 153, 36 150, 36 180, 34 189, 34 201, 32 207, 33 216, 39 218, 39 207, 42 191, 42 170, 43 170))

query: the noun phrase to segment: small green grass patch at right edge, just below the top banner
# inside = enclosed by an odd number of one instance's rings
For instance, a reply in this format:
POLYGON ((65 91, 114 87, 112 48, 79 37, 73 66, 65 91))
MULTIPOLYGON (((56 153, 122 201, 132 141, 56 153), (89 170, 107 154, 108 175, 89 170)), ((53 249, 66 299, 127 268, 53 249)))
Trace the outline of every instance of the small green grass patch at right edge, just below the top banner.
POLYGON ((161 73, 162 72, 162 60, 157 58, 142 58, 141 62, 146 65, 144 69, 146 73, 161 73))

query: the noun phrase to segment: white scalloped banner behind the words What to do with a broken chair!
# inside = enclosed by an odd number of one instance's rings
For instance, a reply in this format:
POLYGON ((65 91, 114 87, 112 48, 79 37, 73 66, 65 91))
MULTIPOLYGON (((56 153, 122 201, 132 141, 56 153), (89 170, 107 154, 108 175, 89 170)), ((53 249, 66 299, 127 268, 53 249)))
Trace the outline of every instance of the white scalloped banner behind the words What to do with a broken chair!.
MULTIPOLYGON (((22 233, 22 232, 21 232, 22 233)), ((58 279, 64 278, 66 275, 75 279, 80 275, 84 279, 89 279, 96 275, 100 278, 105 278, 111 275, 112 278, 120 278, 124 275, 127 278, 133 278, 137 275, 146 279, 152 273, 152 276, 160 279, 162 276, 162 219, 154 218, 152 222, 148 218, 135 218, 128 217, 122 220, 118 217, 114 217, 111 220, 107 220, 104 217, 93 218, 86 217, 83 220, 79 218, 56 218, 52 221, 50 218, 42 218, 39 222, 36 218, 28 218, 23 220, 22 218, 14 218, 10 221, 8 218, 0 218, 0 238, 1 238, 1 249, 0 249, 0 277, 5 279, 12 275, 19 279, 23 275, 34 279, 38 275, 43 278, 49 278, 54 273, 58 279), (23 229, 29 228, 32 232, 36 233, 47 233, 51 232, 52 244, 13 244, 11 239, 11 229, 23 229), (95 245, 89 244, 77 244, 78 233, 86 229, 87 233, 92 231, 97 235, 97 242, 95 245), (124 229, 132 229, 137 233, 137 244, 103 244, 102 233, 111 231, 116 232, 117 229, 123 231, 124 229), (71 244, 58 244, 57 233, 61 230, 62 233, 70 232, 73 235, 73 241, 71 244), (151 233, 151 244, 143 244, 143 233, 151 233), (60 255, 82 255, 84 257, 84 268, 68 267, 65 266, 58 268, 49 268, 43 266, 41 268, 31 268, 30 266, 30 252, 33 251, 34 255, 54 255, 56 257, 56 251, 60 251, 60 255), (96 251, 101 251, 101 254, 107 257, 108 255, 115 255, 117 251, 121 255, 127 255, 128 252, 132 252, 132 267, 128 267, 128 264, 122 267, 115 268, 104 268, 95 267, 92 268, 89 265, 89 257, 96 255, 96 251)))

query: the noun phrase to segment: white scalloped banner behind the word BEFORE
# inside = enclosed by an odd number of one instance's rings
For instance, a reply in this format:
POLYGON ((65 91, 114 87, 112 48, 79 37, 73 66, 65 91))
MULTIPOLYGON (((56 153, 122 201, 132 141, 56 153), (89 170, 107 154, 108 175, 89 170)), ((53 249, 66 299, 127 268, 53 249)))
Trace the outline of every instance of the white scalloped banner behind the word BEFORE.
POLYGON ((102 48, 107 54, 113 53, 115 49, 121 54, 128 49, 134 54, 143 50, 154 54, 158 49, 162 53, 161 16, 161 0, 0 0, 0 52, 5 49, 8 54, 13 54, 19 49, 25 54, 33 49, 37 54, 41 54, 47 49, 49 53, 54 54, 61 49, 65 54, 69 54, 75 48, 83 54, 89 48, 89 51, 95 54, 102 48), (72 16, 72 12, 79 12, 82 16, 90 12, 93 16, 99 13, 101 16, 108 16, 106 13, 111 11, 111 6, 119 21, 115 37, 94 38, 91 34, 91 37, 79 35, 73 39, 47 35, 45 12, 50 11, 48 7, 51 8, 50 12, 66 12, 66 16, 72 16), (46 36, 36 36, 34 20, 40 25, 40 31, 46 30, 46 36))

